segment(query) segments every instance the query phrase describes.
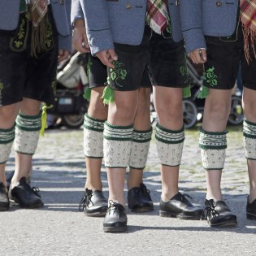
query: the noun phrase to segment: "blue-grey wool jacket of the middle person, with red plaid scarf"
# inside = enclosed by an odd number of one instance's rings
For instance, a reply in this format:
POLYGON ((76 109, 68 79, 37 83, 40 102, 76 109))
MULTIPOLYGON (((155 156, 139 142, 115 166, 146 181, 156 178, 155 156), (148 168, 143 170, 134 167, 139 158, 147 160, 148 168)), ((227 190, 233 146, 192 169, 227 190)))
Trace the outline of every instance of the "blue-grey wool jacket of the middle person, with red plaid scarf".
MULTIPOLYGON (((190 0, 193 1, 193 0, 190 0)), ((85 17, 92 54, 114 49, 114 42, 137 46, 145 28, 146 0, 72 0, 72 22, 85 17)), ((182 40, 180 7, 168 0, 172 39, 182 40)))

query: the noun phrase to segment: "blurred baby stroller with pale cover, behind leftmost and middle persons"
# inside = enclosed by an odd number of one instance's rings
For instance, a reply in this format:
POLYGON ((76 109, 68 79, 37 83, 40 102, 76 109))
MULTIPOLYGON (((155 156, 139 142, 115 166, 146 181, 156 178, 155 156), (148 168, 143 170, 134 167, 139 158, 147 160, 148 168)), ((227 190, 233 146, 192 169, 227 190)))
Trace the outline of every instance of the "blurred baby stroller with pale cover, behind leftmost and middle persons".
POLYGON ((76 53, 59 65, 56 101, 47 111, 50 114, 47 119, 50 121, 51 118, 53 125, 59 122, 67 128, 80 128, 84 123, 84 115, 89 104, 83 97, 88 86, 85 72, 87 62, 87 54, 76 53))

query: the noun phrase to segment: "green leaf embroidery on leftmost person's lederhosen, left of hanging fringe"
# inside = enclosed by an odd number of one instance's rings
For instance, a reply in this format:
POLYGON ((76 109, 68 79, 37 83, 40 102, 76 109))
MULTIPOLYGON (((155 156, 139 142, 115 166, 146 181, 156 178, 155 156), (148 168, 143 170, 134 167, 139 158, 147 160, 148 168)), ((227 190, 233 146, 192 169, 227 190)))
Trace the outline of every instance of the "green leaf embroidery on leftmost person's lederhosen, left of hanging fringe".
POLYGON ((15 52, 24 51, 27 47, 27 40, 28 40, 28 24, 29 24, 29 17, 28 13, 23 14, 20 16, 20 24, 15 34, 15 37, 11 37, 10 40, 10 49, 15 52))

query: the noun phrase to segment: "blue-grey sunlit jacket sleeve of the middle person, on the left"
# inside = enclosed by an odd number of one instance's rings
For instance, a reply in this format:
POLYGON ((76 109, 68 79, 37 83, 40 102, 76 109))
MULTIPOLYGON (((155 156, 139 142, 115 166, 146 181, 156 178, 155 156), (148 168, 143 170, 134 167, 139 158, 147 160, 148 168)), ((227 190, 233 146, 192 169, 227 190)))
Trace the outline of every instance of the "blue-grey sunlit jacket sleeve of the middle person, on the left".
POLYGON ((114 49, 106 1, 80 0, 80 6, 85 15, 85 27, 91 53, 96 54, 102 50, 114 49))

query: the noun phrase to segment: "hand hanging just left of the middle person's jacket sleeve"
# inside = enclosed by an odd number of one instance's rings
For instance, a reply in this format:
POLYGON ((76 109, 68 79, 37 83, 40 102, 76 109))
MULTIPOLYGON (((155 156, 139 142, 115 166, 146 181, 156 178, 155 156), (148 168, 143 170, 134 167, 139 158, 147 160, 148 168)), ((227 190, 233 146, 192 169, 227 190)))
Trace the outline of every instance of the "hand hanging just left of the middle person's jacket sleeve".
POLYGON ((73 47, 80 53, 89 53, 89 43, 86 36, 85 20, 76 20, 73 30, 73 47))

